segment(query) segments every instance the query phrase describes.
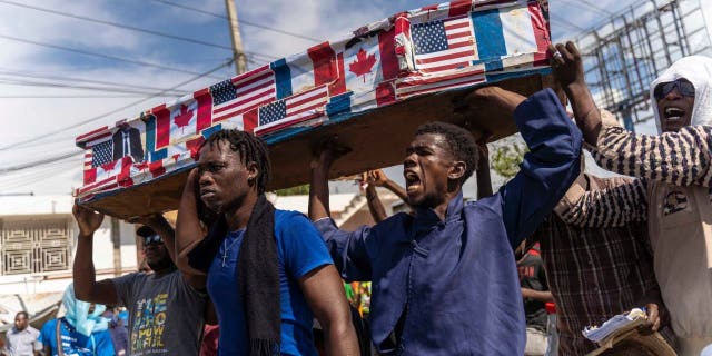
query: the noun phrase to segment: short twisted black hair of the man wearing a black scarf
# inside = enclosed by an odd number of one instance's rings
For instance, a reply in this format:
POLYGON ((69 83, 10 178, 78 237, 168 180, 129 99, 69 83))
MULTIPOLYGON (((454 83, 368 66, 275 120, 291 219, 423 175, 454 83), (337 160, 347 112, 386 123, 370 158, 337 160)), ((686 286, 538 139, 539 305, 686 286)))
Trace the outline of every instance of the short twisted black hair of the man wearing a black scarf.
POLYGON ((255 162, 257 174, 257 192, 264 194, 271 178, 271 164, 269 161, 269 148, 259 137, 237 129, 222 129, 212 134, 200 148, 210 145, 212 148, 218 142, 227 142, 233 151, 237 152, 243 164, 255 162))

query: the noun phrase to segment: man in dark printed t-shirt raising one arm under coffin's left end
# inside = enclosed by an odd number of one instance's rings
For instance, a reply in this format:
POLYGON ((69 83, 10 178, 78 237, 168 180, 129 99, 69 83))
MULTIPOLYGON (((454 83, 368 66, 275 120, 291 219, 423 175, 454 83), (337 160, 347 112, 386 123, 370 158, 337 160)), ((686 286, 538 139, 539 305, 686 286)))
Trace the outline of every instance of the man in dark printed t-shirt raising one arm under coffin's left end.
POLYGON ((146 261, 152 273, 132 273, 97 281, 93 268, 93 235, 103 215, 75 205, 79 226, 73 279, 82 300, 126 306, 129 309, 130 355, 197 355, 202 336, 207 295, 194 285, 204 276, 181 273, 172 260, 174 229, 159 214, 131 219, 142 224, 146 261))

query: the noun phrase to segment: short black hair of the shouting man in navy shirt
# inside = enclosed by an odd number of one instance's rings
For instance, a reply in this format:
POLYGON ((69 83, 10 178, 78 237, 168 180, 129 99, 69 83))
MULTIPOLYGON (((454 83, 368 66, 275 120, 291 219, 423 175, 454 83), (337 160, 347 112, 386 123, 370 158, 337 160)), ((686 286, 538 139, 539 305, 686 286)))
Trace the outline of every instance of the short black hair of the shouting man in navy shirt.
POLYGON ((418 126, 415 130, 415 136, 426 134, 436 134, 445 137, 445 142, 448 146, 446 149, 449 154, 453 155, 455 160, 464 161, 466 165, 462 181, 464 182, 467 178, 472 177, 479 161, 479 151, 469 131, 452 123, 432 121, 418 126))

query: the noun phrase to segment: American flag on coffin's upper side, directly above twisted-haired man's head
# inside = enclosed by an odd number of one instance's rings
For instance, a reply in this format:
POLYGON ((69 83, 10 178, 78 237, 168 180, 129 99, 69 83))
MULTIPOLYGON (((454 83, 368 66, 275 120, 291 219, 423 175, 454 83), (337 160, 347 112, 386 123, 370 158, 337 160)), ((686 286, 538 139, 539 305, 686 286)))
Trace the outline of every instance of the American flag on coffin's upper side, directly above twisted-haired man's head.
POLYGON ((211 86, 210 93, 212 122, 219 122, 275 100, 275 76, 269 66, 263 66, 211 86))

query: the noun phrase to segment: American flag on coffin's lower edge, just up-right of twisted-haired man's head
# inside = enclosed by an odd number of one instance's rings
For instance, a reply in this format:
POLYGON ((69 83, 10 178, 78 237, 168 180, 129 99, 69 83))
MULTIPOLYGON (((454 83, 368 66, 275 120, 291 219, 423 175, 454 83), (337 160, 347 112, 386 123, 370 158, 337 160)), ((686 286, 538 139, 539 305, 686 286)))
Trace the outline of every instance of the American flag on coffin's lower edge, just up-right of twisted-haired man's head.
POLYGON ((265 135, 313 118, 324 116, 328 100, 327 86, 320 86, 296 96, 259 108, 255 135, 265 135))

